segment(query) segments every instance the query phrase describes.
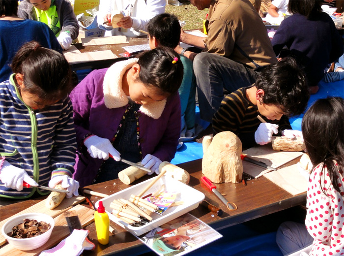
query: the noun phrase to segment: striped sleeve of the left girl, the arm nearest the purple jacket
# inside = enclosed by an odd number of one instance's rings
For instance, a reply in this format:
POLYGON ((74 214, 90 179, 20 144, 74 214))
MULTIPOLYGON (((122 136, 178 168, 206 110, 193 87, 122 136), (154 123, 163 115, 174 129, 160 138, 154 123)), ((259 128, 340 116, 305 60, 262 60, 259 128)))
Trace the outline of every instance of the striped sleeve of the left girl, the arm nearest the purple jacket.
POLYGON ((72 177, 75 164, 76 139, 73 122, 73 108, 69 97, 66 97, 62 103, 60 117, 55 126, 55 136, 53 151, 51 154, 52 176, 68 175, 72 177))

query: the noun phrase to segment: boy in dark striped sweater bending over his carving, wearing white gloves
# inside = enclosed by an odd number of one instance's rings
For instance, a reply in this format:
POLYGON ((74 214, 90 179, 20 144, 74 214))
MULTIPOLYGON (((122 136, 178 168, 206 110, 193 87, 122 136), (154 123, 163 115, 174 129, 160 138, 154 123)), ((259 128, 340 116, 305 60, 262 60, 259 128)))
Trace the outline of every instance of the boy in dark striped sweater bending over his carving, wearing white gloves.
POLYGON ((214 135, 229 130, 239 137, 243 149, 271 142, 274 133, 302 136, 301 131, 291 129, 288 117, 301 114, 309 97, 304 72, 287 57, 264 68, 252 86, 222 100, 212 120, 214 135), (267 123, 260 123, 258 115, 267 123))

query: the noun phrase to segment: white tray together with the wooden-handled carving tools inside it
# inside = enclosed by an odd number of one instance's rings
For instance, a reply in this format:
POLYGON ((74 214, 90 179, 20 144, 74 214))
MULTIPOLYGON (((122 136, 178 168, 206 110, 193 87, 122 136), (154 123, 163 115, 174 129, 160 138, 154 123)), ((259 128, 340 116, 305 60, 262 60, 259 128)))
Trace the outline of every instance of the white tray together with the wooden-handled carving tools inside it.
POLYGON ((202 192, 171 177, 159 176, 99 200, 110 220, 142 235, 197 208, 204 199, 202 192))

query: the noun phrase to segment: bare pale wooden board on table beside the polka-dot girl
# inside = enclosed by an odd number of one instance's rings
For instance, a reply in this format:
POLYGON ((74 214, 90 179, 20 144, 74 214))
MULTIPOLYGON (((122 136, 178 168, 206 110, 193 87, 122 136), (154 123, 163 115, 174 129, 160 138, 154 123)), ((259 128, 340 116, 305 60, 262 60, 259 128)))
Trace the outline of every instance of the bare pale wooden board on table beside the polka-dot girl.
POLYGON ((307 191, 308 180, 299 172, 297 164, 266 173, 264 176, 292 195, 307 191))

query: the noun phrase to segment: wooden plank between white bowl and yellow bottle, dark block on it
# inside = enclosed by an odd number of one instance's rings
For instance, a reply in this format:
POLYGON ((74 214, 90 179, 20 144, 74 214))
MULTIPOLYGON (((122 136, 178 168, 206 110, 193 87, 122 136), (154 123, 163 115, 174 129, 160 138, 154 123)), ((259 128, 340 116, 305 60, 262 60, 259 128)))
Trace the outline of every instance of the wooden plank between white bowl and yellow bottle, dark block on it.
POLYGON ((67 226, 66 218, 67 216, 76 216, 78 215, 80 219, 81 225, 84 227, 94 220, 94 210, 87 208, 83 205, 77 205, 70 210, 68 210, 65 213, 60 214, 56 218, 54 218, 55 221, 55 227, 53 229, 52 235, 49 238, 48 242, 45 243, 40 248, 37 248, 35 250, 31 251, 21 251, 18 249, 15 249, 12 245, 7 244, 4 247, 0 249, 0 255, 10 255, 10 256, 36 256, 39 255, 42 251, 47 250, 53 246, 55 246, 57 243, 59 243, 62 239, 69 236, 69 228, 67 226))

